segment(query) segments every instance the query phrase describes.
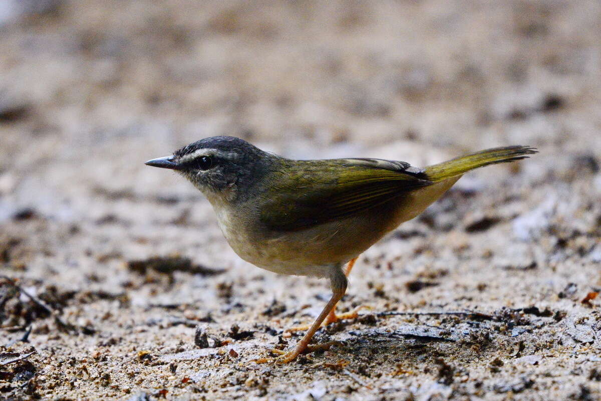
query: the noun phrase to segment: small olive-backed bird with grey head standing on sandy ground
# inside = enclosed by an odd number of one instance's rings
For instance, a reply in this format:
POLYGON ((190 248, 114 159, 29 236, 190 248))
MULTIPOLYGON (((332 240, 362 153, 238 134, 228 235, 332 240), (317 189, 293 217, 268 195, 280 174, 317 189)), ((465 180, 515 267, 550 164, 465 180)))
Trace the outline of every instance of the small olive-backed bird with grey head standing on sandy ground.
POLYGON ((468 171, 534 153, 529 146, 496 147, 416 168, 372 158, 293 160, 234 136, 212 136, 145 164, 177 171, 199 189, 246 262, 278 274, 329 279, 332 296, 322 312, 293 349, 274 358, 289 363, 319 349, 311 339, 326 319, 337 320, 335 305, 359 255, 468 171))

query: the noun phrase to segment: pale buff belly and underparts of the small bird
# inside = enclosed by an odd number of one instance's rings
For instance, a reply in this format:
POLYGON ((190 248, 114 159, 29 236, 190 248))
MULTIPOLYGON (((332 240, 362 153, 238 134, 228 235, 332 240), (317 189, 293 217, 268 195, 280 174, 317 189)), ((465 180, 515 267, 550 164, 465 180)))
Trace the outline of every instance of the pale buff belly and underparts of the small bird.
POLYGON ((213 207, 225 238, 246 262, 278 274, 325 277, 333 266, 359 256, 399 224, 423 212, 459 178, 417 189, 350 218, 297 231, 234 230, 260 224, 240 224, 244 218, 227 206, 213 207), (234 224, 234 219, 239 221, 234 224))

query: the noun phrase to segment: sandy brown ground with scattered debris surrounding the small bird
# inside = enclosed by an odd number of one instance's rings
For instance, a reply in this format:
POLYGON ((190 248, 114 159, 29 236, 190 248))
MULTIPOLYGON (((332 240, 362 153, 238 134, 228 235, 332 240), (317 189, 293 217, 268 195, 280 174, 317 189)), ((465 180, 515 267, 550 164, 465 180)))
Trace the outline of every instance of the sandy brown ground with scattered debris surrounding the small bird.
POLYGON ((0 399, 601 397, 598 1, 0 3, 0 399), (329 297, 147 159, 212 135, 423 166, 495 145, 329 297), (153 259, 154 258, 154 259, 153 259), (157 259, 158 258, 158 259, 157 259))

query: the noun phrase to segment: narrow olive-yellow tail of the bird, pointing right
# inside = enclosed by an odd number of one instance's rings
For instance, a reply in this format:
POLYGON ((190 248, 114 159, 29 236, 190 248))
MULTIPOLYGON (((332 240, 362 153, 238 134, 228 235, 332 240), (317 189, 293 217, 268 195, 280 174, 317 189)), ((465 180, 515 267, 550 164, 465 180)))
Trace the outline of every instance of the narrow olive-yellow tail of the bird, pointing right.
POLYGON ((425 173, 430 181, 440 182, 461 176, 474 168, 526 159, 528 158, 526 155, 534 155, 534 153, 537 153, 537 150, 529 146, 497 147, 426 167, 425 173))

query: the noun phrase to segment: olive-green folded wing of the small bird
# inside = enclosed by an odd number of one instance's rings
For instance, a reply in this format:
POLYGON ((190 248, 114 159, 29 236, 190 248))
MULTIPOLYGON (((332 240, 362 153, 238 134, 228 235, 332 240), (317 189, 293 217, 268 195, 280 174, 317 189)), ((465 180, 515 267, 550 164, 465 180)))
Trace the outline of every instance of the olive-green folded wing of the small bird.
POLYGON ((261 222, 294 231, 346 218, 432 184, 409 164, 380 159, 295 162, 271 180, 261 222))

